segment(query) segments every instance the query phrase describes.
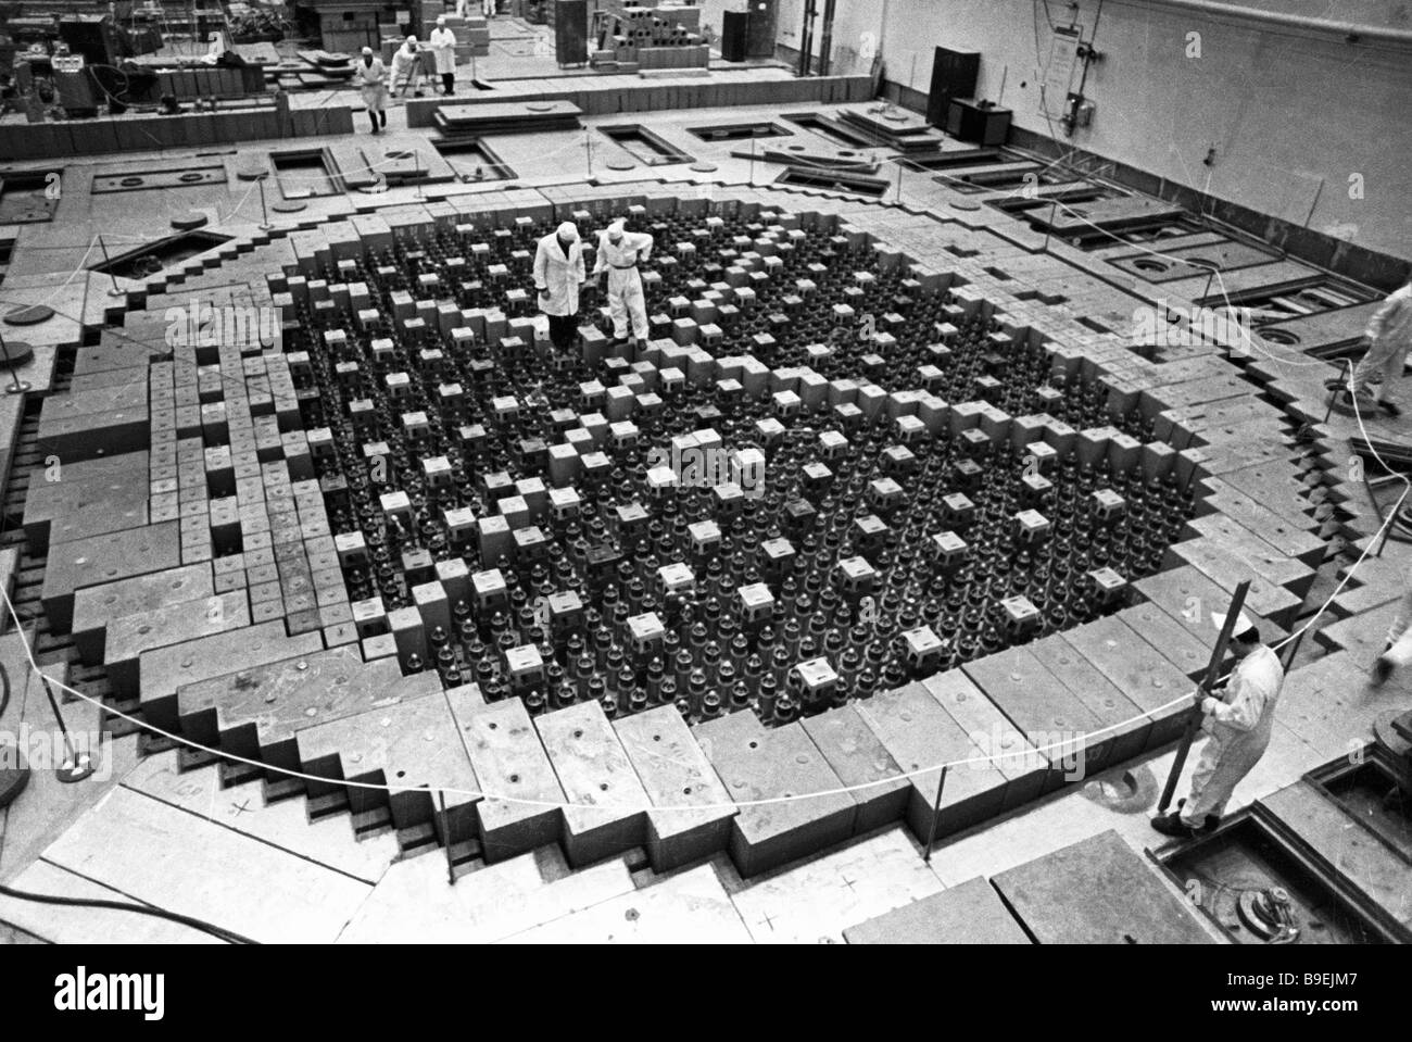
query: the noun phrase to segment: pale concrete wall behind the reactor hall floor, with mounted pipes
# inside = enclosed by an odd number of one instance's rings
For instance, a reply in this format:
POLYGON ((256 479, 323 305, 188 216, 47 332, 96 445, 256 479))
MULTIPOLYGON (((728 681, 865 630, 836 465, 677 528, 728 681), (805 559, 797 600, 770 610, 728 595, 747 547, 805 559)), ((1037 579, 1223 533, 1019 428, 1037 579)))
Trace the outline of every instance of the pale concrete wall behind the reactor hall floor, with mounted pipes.
MULTIPOLYGON (((822 8, 822 0, 819 0, 822 8)), ((1412 28, 1404 0, 1255 0, 1308 17, 1412 28)), ((1412 258, 1412 47, 1185 11, 1155 0, 1048 0, 1104 54, 1084 95, 1090 128, 1065 137, 1041 109, 1051 30, 1039 0, 839 0, 832 72, 864 72, 871 34, 888 80, 931 85, 932 48, 981 52, 980 93, 1017 127, 1055 137, 1354 243, 1412 258), (1190 37, 1189 34, 1199 34, 1190 37), (1195 44, 1199 44, 1199 54, 1195 44), (1203 165, 1207 150, 1214 162, 1203 165), (1350 184, 1353 179, 1353 184, 1350 184), (1361 185, 1361 196, 1358 188, 1361 185)), ((799 47, 803 0, 781 0, 779 44, 799 47)), ((818 51, 820 27, 815 28, 818 51)))

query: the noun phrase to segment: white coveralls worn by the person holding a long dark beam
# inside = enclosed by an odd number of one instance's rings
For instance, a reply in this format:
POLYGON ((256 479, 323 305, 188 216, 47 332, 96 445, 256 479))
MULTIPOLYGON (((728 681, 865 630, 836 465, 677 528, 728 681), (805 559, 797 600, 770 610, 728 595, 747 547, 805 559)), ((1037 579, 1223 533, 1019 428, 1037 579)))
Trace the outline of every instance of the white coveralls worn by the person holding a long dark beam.
POLYGON ((1182 822, 1192 829, 1220 815, 1236 785, 1260 762, 1275 724, 1275 702, 1285 682, 1279 657, 1261 644, 1231 671, 1226 697, 1209 697, 1202 706, 1202 730, 1210 736, 1192 775, 1192 795, 1182 808, 1182 822))

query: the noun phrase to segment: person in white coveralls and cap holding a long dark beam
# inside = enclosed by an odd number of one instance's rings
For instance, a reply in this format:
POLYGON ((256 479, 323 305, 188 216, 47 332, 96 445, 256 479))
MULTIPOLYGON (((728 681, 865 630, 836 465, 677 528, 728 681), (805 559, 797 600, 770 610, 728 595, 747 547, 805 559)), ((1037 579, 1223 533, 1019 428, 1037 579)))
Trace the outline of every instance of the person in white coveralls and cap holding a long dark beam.
MULTIPOLYGON (((1213 613, 1213 621, 1224 618, 1213 613)), ((1209 736, 1192 775, 1190 798, 1179 810, 1152 819, 1163 836, 1190 839, 1213 830, 1240 779, 1260 762, 1275 726, 1275 703, 1285 683, 1279 657, 1260 641, 1260 630, 1241 611, 1231 630, 1236 668, 1221 697, 1202 699, 1202 730, 1209 736)))

